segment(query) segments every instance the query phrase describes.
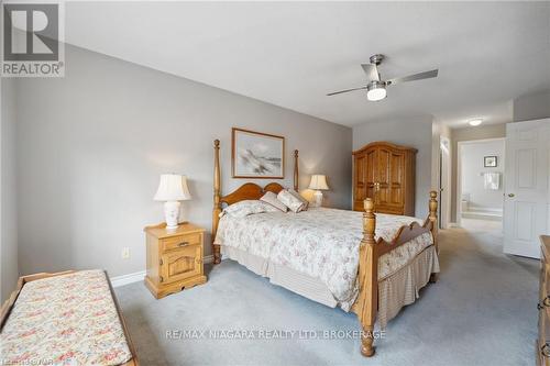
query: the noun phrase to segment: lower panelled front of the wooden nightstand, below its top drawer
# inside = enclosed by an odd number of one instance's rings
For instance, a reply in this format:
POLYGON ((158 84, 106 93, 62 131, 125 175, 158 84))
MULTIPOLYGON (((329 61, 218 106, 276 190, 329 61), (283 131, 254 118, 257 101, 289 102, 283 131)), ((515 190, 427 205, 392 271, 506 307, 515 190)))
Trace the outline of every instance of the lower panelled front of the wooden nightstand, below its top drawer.
POLYGON ((202 274, 202 246, 188 245, 161 256, 161 282, 167 284, 202 274))

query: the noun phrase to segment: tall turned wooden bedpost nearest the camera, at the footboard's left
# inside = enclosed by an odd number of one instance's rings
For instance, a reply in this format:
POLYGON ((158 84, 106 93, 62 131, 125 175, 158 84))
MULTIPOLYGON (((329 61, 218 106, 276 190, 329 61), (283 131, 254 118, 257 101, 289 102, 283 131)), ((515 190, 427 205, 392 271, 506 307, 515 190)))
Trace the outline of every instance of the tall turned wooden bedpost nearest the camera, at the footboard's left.
POLYGON ((376 259, 376 217, 374 202, 371 198, 364 200, 363 240, 359 249, 359 320, 363 328, 361 334, 361 354, 366 357, 374 355, 374 322, 378 310, 378 260, 376 259))

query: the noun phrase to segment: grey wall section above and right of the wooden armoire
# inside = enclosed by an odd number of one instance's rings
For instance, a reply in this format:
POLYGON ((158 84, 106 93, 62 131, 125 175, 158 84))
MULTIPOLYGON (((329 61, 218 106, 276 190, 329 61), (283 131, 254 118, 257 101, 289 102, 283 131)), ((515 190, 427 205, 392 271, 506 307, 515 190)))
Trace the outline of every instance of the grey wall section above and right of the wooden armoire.
POLYGON ((376 121, 353 127, 353 149, 370 142, 388 141, 418 149, 416 156, 416 215, 428 215, 431 190, 432 118, 418 117, 376 121))

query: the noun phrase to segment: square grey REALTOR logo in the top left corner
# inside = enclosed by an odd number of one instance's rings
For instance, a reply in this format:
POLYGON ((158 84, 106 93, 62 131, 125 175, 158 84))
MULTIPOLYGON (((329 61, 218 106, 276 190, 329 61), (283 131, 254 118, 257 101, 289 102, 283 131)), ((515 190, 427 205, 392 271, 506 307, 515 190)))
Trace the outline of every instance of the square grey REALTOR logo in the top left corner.
POLYGON ((63 3, 2 3, 2 77, 62 77, 63 3))

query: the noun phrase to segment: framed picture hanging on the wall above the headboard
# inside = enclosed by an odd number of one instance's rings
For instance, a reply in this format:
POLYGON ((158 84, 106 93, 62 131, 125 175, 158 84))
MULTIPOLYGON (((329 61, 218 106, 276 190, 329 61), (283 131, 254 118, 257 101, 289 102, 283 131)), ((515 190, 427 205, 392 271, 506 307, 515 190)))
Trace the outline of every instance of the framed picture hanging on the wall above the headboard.
POLYGON ((233 178, 285 177, 285 137, 233 127, 231 148, 233 178))

